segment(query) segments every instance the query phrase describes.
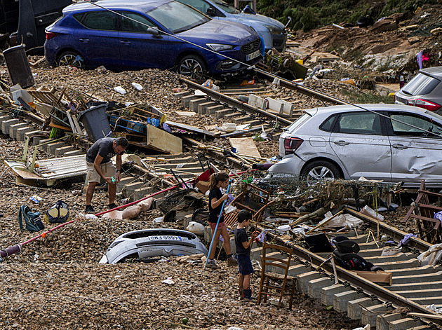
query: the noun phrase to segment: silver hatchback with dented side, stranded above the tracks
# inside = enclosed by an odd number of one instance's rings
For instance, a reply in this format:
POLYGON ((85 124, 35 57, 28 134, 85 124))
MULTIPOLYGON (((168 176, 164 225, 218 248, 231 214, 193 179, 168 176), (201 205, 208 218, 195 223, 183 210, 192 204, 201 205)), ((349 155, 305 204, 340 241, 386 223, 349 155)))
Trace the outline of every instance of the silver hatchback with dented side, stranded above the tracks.
POLYGON ((279 139, 269 171, 307 178, 442 185, 442 116, 415 106, 357 104, 305 111, 279 139))

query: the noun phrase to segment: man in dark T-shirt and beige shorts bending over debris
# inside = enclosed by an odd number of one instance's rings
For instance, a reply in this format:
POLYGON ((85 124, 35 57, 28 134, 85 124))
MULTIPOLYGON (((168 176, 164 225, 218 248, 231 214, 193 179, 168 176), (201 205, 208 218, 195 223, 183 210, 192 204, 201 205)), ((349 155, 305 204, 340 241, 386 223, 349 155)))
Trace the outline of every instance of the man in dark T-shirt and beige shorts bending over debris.
POLYGON ((109 193, 109 209, 116 207, 115 194, 116 184, 121 179, 121 154, 128 146, 126 137, 102 137, 89 148, 86 153, 86 166, 88 168, 88 188, 86 189, 86 213, 95 213, 91 205, 95 186, 103 178, 107 184, 109 193), (111 158, 116 155, 116 167, 111 158), (112 182, 112 177, 115 181, 112 182))

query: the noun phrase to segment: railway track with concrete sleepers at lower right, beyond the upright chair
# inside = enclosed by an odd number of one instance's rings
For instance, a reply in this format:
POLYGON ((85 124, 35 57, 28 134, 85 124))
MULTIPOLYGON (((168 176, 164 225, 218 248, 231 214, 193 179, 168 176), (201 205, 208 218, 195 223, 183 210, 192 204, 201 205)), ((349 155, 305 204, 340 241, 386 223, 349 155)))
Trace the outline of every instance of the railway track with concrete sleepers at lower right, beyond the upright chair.
MULTIPOLYGON (((274 242, 294 250, 295 261, 290 275, 297 277, 297 287, 312 298, 320 298, 324 305, 333 305, 338 312, 347 312, 351 319, 361 319, 363 325, 370 324, 372 329, 373 326, 378 330, 442 329, 442 315, 427 308, 429 305, 442 306, 442 294, 438 289, 442 284, 442 267, 420 267, 417 260, 417 255, 427 251, 431 245, 411 238, 408 252, 381 256, 384 243, 375 242, 374 238, 387 235, 389 240, 399 242, 407 233, 387 224, 378 224, 352 209, 345 209, 344 213, 362 219, 370 231, 367 234, 368 229, 359 229, 339 235, 357 242, 361 247, 358 254, 366 261, 392 273, 391 285, 373 283, 340 266, 333 268, 332 263, 326 262, 330 252, 312 253, 270 233, 274 242)), ((263 230, 264 226, 258 226, 258 229, 263 230)), ((334 235, 330 234, 328 238, 334 235)), ((260 258, 259 247, 253 249, 253 256, 260 258)))

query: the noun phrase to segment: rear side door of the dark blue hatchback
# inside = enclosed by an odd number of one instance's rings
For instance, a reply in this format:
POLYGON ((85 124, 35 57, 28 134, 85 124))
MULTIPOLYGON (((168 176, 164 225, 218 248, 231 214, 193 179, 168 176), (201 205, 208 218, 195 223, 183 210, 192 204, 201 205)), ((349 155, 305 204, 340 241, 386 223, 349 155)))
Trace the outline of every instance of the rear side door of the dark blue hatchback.
POLYGON ((93 11, 81 20, 81 27, 75 30, 72 47, 83 54, 91 67, 118 66, 119 18, 109 11, 93 11))

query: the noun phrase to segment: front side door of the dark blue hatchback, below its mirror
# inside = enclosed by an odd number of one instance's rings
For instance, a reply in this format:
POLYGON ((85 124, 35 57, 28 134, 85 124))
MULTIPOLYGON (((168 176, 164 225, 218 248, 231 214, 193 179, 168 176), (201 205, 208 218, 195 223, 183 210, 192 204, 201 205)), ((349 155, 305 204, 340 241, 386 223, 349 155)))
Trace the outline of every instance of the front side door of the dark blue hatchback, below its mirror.
POLYGON ((169 69, 174 66, 168 52, 169 36, 152 34, 149 27, 156 26, 145 16, 127 11, 121 12, 119 48, 125 67, 169 69))

